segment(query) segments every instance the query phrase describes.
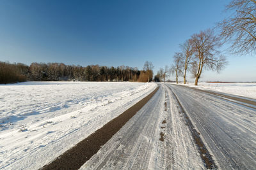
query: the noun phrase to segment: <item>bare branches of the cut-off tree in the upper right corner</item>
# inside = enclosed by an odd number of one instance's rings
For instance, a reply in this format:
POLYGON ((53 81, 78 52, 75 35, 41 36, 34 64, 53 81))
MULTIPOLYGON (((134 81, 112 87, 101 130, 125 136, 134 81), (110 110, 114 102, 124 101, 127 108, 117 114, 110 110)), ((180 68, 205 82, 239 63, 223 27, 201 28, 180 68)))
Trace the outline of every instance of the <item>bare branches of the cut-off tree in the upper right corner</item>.
POLYGON ((256 1, 233 0, 226 10, 234 13, 218 24, 221 36, 232 41, 234 53, 256 52, 256 1))

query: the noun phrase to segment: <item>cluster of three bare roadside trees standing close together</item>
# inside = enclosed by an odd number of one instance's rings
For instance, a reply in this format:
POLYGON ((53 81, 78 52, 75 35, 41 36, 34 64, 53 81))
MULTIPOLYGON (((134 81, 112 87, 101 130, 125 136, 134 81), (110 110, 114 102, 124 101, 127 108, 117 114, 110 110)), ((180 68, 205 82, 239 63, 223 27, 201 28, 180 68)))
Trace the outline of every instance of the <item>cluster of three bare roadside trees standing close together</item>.
MULTIPOLYGON (((214 34, 213 29, 193 34, 190 39, 180 45, 180 52, 173 55, 173 64, 168 72, 175 75, 176 83, 179 82, 178 77, 183 76, 186 84, 189 71, 195 78, 195 85, 198 85, 198 80, 205 69, 220 73, 227 64, 225 56, 219 51, 222 44, 220 36, 214 34)), ((161 74, 158 76, 161 80, 161 74)))

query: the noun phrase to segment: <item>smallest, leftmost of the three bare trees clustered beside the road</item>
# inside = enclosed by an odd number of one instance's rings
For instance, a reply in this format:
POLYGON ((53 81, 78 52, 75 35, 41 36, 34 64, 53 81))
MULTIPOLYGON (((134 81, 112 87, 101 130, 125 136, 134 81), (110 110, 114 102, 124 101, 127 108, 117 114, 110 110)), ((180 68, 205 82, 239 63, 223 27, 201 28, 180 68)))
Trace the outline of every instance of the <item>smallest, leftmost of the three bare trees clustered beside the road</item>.
POLYGON ((174 64, 172 65, 170 71, 172 74, 176 76, 176 83, 178 83, 178 76, 182 74, 182 67, 183 67, 183 54, 182 53, 175 53, 173 55, 174 64))

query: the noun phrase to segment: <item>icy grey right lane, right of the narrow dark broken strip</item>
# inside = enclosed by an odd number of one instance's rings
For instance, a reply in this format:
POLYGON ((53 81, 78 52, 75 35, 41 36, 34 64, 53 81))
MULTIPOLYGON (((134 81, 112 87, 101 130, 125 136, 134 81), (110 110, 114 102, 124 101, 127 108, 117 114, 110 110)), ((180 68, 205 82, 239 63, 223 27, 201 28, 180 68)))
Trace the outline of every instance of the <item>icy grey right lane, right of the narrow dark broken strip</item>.
MULTIPOLYGON (((256 110, 168 84, 222 169, 255 169, 256 110)), ((255 107, 254 107, 255 108, 255 107)))

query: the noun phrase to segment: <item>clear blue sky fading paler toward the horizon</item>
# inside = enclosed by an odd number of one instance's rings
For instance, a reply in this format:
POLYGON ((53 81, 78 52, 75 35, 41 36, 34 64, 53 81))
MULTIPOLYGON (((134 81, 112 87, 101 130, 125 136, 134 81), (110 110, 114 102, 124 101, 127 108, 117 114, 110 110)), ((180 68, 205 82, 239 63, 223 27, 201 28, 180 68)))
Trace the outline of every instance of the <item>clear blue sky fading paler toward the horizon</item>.
MULTIPOLYGON (((191 35, 228 17, 229 2, 1 0, 0 61, 142 69, 148 60, 157 73, 191 35)), ((223 53, 225 69, 204 70, 200 81, 256 81, 256 56, 223 53)))

